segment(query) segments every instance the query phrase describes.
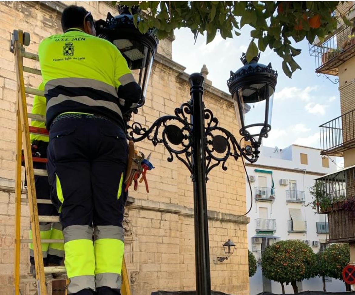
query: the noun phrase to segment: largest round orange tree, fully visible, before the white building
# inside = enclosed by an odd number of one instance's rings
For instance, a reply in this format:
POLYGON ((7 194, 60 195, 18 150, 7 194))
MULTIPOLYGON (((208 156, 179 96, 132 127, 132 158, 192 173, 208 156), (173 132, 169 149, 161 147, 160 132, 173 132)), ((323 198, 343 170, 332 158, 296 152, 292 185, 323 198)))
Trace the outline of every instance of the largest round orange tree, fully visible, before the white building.
POLYGON ((299 240, 279 241, 265 249, 261 258, 263 275, 282 286, 291 283, 294 293, 298 293, 297 281, 317 275, 316 255, 310 246, 299 240))

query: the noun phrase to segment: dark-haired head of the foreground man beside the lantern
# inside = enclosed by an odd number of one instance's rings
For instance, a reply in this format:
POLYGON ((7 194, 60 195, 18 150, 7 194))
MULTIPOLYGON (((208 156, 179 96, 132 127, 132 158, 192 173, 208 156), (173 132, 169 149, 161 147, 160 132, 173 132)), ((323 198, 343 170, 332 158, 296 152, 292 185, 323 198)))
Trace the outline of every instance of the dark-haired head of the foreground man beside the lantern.
POLYGON ((62 13, 62 29, 66 32, 70 28, 80 28, 85 33, 96 36, 95 23, 91 12, 84 7, 70 5, 62 13))

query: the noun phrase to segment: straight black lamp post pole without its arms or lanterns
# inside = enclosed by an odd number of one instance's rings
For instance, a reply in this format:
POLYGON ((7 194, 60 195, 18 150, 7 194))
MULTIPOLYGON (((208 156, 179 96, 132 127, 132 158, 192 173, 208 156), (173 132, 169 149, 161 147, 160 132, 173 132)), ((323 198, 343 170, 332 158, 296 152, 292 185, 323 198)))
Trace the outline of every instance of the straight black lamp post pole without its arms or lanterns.
POLYGON ((206 135, 204 130, 203 76, 191 74, 190 94, 192 100, 192 169, 193 204, 195 219, 196 294, 211 294, 209 267, 209 240, 206 194, 206 135))

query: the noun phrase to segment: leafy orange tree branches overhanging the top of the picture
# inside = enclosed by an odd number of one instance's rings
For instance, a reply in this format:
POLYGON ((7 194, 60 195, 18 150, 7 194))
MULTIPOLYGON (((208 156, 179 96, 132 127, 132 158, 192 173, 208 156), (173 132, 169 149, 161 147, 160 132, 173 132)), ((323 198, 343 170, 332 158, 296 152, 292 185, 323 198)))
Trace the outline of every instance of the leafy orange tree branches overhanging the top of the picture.
MULTIPOLYGON (((113 1, 116 4, 117 1, 113 1)), ((339 22, 352 25, 348 15, 338 11, 338 1, 119 1, 137 5, 134 13, 136 26, 142 33, 155 27, 159 39, 172 34, 174 29, 187 27, 197 38, 206 34, 207 43, 217 32, 222 38, 240 35, 249 24, 251 42, 246 52, 250 61, 258 50, 267 47, 283 58, 282 68, 291 77, 300 66, 294 60, 301 53, 293 44, 305 38, 313 43, 317 36, 323 40, 339 22), (142 20, 142 21, 139 21, 142 20)), ((343 2, 342 2, 343 3, 343 2)))

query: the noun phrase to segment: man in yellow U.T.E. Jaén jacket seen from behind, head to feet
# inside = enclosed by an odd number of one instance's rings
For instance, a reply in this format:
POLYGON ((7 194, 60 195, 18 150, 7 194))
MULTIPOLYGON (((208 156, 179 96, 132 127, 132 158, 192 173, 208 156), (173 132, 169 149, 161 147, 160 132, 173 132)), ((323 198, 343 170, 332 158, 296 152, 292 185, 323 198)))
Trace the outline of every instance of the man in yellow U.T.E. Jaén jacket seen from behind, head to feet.
POLYGON ((141 88, 116 46, 95 37, 90 12, 69 6, 61 24, 64 34, 44 39, 38 55, 47 99, 47 171, 61 211, 67 290, 117 295, 127 198, 121 109, 137 105, 141 88))

